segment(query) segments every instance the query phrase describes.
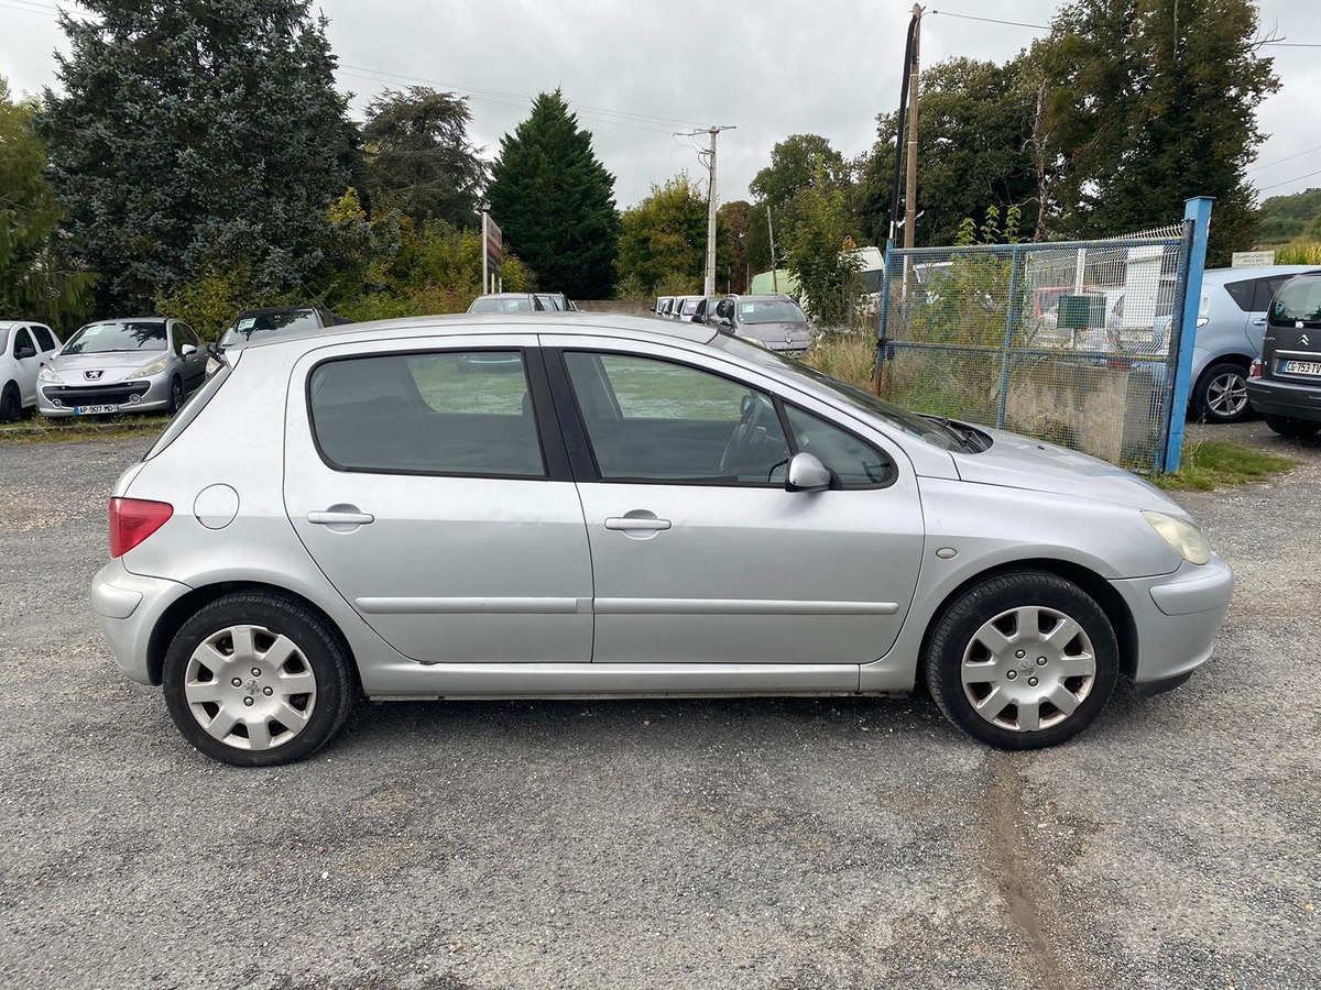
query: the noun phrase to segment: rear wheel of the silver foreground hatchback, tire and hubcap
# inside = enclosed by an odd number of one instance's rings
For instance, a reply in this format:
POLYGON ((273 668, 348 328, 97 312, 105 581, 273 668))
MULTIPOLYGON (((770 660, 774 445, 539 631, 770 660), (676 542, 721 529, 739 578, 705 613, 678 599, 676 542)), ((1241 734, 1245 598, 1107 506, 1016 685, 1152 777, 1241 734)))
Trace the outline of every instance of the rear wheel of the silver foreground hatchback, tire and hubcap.
POLYGON ((165 705, 184 738, 235 767, 273 767, 310 756, 336 737, 353 708, 349 652, 338 632, 303 603, 266 591, 236 591, 198 610, 170 642, 162 681, 165 705), (226 656, 226 638, 229 657, 246 652, 230 635, 244 627, 254 630, 254 652, 234 667, 235 660, 226 656), (277 636, 295 647, 287 660, 281 660, 285 647, 277 636), (223 667, 218 672, 209 664, 223 667), (291 682, 293 688, 281 686, 291 682), (310 696, 297 692, 303 686, 312 688, 310 696), (203 693, 214 693, 218 701, 201 700, 203 693), (293 727, 306 711, 304 725, 293 727), (223 738, 207 731, 203 718, 223 738), (223 731, 235 718, 232 730, 223 731), (269 746, 250 748, 254 741, 269 746))

